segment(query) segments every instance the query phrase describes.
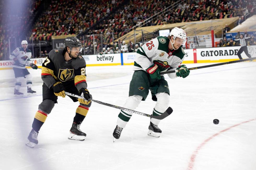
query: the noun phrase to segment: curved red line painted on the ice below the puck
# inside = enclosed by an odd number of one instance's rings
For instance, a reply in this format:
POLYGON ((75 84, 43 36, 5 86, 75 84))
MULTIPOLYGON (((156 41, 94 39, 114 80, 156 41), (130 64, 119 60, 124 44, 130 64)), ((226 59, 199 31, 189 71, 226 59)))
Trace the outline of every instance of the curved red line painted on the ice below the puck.
POLYGON ((227 131, 227 130, 229 130, 229 129, 231 129, 231 128, 237 127, 237 126, 239 126, 239 125, 241 125, 241 124, 243 124, 243 123, 248 123, 248 122, 251 122, 251 121, 254 121, 254 120, 256 120, 256 118, 255 118, 255 119, 248 120, 248 121, 245 121, 245 122, 242 122, 242 123, 235 124, 235 125, 233 125, 233 126, 230 126, 229 128, 224 129, 224 130, 222 130, 222 131, 220 131, 220 132, 218 132, 218 133, 212 135, 211 137, 209 137, 209 138, 206 139, 205 141, 203 141, 203 142, 196 148, 196 150, 193 152, 193 154, 191 155, 191 157, 190 157, 190 162, 189 162, 189 164, 188 164, 188 170, 192 170, 192 169, 194 168, 194 163, 195 163, 195 159, 196 159, 197 153, 198 153, 199 150, 200 150, 208 141, 210 141, 213 137, 218 136, 219 134, 221 134, 221 133, 223 133, 223 132, 225 132, 225 131, 227 131))

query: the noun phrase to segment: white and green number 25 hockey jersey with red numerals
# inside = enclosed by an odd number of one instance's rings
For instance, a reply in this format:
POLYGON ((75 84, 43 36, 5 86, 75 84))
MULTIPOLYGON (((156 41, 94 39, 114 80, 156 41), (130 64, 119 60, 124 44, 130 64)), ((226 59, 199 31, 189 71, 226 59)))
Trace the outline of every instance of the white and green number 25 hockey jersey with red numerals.
MULTIPOLYGON (((159 36, 140 47, 136 53, 133 70, 144 70, 152 64, 158 65, 161 72, 176 70, 184 60, 185 52, 182 47, 177 50, 168 48, 169 39, 159 36)), ((171 79, 176 78, 176 73, 167 74, 171 79)))

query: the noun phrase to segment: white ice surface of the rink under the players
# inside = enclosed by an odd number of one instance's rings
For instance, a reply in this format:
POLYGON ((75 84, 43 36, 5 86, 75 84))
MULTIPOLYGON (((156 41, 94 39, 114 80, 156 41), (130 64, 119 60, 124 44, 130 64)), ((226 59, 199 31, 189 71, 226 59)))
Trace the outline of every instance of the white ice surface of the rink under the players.
MULTIPOLYGON (((187 64, 201 65, 208 64, 187 64)), ((68 140, 78 103, 59 98, 33 149, 25 143, 42 101, 42 80, 40 70, 28 70, 37 95, 27 97, 24 82, 21 98, 13 97, 13 70, 0 71, 0 169, 256 169, 255 62, 192 70, 184 79, 165 76, 173 113, 159 124, 160 138, 147 136, 149 118, 134 114, 113 143, 119 110, 92 103, 81 125, 85 141, 68 140)), ((86 74, 94 99, 123 106, 132 66, 87 67, 86 74)), ((151 114, 154 105, 148 96, 136 110, 151 114)))

